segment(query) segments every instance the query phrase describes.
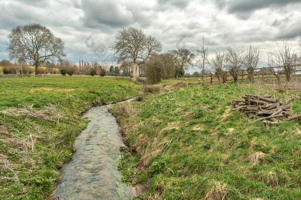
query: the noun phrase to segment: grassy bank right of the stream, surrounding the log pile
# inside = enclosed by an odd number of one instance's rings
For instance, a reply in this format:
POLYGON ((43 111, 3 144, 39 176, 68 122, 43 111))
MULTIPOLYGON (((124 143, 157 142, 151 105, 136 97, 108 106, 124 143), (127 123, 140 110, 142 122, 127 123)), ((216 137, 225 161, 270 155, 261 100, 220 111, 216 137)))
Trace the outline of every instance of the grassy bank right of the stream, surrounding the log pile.
POLYGON ((162 90, 112 110, 128 145, 123 180, 150 180, 143 199, 301 198, 301 122, 267 127, 229 107, 246 93, 269 93, 293 96, 301 114, 300 91, 241 83, 162 90))

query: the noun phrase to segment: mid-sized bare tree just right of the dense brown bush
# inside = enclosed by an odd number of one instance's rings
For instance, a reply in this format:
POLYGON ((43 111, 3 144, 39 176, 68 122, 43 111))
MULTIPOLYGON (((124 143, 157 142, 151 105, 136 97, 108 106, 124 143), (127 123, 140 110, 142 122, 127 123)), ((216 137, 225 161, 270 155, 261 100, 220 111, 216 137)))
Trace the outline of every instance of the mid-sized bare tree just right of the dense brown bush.
POLYGON ((170 50, 167 52, 167 55, 170 56, 170 59, 173 61, 175 68, 175 78, 179 78, 181 74, 184 75, 185 69, 191 65, 194 58, 194 54, 186 48, 180 48, 175 50, 170 50))

